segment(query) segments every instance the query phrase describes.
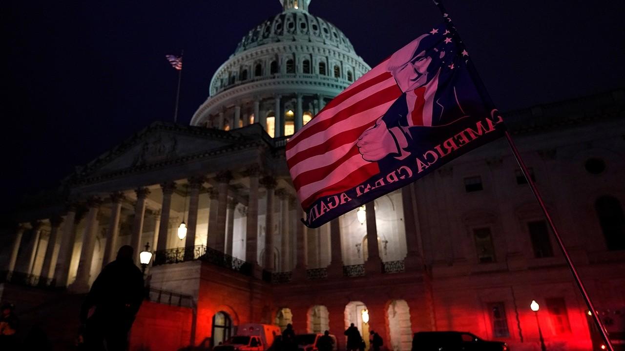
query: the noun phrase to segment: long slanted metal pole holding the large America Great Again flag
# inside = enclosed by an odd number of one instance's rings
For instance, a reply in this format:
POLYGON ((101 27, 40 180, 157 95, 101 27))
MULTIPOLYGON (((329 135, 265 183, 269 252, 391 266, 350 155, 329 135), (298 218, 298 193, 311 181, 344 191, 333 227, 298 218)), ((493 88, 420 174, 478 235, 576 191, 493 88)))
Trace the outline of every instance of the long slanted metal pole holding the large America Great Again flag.
MULTIPOLYGON (((444 21, 445 21, 445 25, 448 27, 448 29, 450 29, 452 36, 456 37, 456 44, 459 47, 459 49, 466 49, 466 47, 464 46, 464 43, 460 39, 460 36, 457 32, 456 27, 452 23, 451 18, 449 18, 449 14, 447 13, 447 11, 445 11, 445 8, 442 6, 441 1, 440 0, 432 0, 432 1, 436 5, 436 7, 438 7, 439 11, 441 11, 442 17, 444 18, 444 21)), ((469 70, 469 73, 471 74, 472 79, 477 86, 477 90, 479 94, 482 96, 482 99, 486 101, 487 103, 493 105, 489 107, 494 107, 494 104, 492 104, 491 97, 489 96, 486 90, 486 86, 484 86, 484 83, 482 82, 481 78, 477 74, 476 69, 472 66, 471 59, 468 56, 467 56, 467 69, 469 70)), ((588 307, 588 310, 591 312, 592 319, 594 320, 595 324, 597 325, 597 328, 601 332, 601 337, 603 338, 604 342, 606 342, 607 350, 614 351, 612 342, 610 342, 610 339, 607 335, 606 327, 603 325, 603 322, 601 322, 601 319, 599 318, 599 315, 597 314, 597 310, 594 308, 594 304, 592 304, 592 300, 590 299, 590 296, 588 295, 588 292, 586 291, 586 287, 584 287, 584 283, 582 282, 581 278, 579 277, 579 274, 577 273, 577 269, 575 268, 575 265, 573 264, 571 260, 571 256, 569 255, 569 252, 567 251, 566 246, 564 245, 564 242, 562 242, 562 237, 560 236, 556 228, 556 224, 554 224, 551 218, 551 215, 549 214, 549 210, 547 210, 547 207, 544 204, 544 201, 542 200, 542 196, 540 192, 538 191, 536 184, 534 184, 534 180, 532 180, 532 177, 529 174, 527 167, 525 166, 525 162, 523 162, 521 154, 519 154, 519 151, 516 148, 514 141, 512 141, 512 137, 510 136, 510 133, 506 131, 504 135, 506 136, 506 141, 508 142, 510 149, 512 150, 512 154, 514 155, 516 162, 519 164, 519 167, 521 167, 521 171, 523 172, 525 179, 527 179, 527 184, 529 184, 529 187, 532 190, 532 194, 534 194, 534 197, 536 197, 536 200, 541 207, 542 214, 544 214, 545 219, 547 220, 547 223, 549 224, 549 227, 551 227, 551 232, 553 233, 554 237, 556 237, 557 244, 560 247, 560 250, 562 251, 562 255, 564 255, 566 264, 569 266, 569 270, 571 270, 571 273, 575 279, 577 287, 579 287, 579 291, 581 292, 582 297, 584 297, 584 301, 586 302, 586 307, 588 307)))

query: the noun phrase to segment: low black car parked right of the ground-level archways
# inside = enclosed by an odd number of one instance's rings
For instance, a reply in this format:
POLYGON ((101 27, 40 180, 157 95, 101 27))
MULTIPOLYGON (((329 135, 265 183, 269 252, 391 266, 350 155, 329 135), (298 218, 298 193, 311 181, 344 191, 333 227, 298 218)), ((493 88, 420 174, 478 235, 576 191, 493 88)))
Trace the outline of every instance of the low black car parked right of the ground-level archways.
POLYGON ((412 351, 510 351, 505 342, 482 340, 469 332, 416 332, 412 351))

